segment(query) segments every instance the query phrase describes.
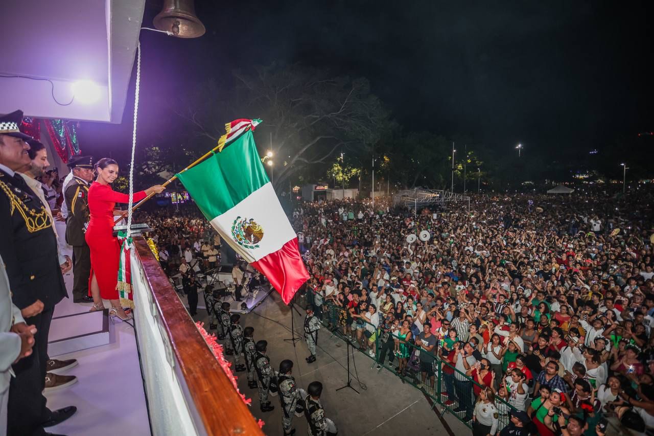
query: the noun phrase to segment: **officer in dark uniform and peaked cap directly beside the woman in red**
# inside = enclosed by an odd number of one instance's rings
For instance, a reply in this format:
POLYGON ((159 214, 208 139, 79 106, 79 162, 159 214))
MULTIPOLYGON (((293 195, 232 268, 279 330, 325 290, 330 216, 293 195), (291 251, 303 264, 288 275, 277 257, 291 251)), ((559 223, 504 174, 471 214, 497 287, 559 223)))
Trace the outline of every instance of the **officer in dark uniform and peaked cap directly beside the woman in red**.
POLYGON ((93 181, 93 157, 77 156, 68 162, 73 180, 64 192, 68 218, 66 242, 73 245, 73 302, 92 302, 88 295, 88 278, 91 274, 91 251, 84 234, 90 219, 88 188, 93 181))

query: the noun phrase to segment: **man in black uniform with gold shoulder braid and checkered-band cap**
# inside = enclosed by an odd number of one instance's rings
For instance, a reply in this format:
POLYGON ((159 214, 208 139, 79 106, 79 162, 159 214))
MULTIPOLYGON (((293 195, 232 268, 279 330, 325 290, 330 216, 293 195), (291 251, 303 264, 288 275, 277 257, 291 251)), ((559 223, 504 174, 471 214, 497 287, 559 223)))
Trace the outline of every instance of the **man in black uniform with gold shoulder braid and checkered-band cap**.
POLYGON ((33 353, 13 365, 9 386, 8 434, 44 435, 77 410, 69 406, 51 411, 43 396, 48 332, 55 304, 67 297, 57 255, 52 218, 23 177, 29 165, 26 140, 18 126, 22 111, 0 116, 0 255, 6 264, 12 302, 37 334, 33 353))

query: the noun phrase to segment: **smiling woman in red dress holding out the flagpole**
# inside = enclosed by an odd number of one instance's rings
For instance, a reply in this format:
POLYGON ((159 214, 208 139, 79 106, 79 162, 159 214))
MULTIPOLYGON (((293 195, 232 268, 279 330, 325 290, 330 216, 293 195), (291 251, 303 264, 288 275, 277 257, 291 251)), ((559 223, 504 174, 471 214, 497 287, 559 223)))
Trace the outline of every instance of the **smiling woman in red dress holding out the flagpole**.
MULTIPOLYGON (((102 300, 111 302, 111 316, 120 319, 129 319, 131 314, 126 314, 120 306, 116 283, 118 283, 118 261, 120 258, 120 244, 118 238, 113 236, 114 215, 123 215, 122 212, 114 213, 116 203, 128 203, 129 195, 114 192, 110 184, 118 177, 118 164, 109 158, 100 159, 95 164, 97 179, 88 189, 88 209, 91 220, 86 229, 86 244, 91 251, 91 274, 89 278, 89 289, 93 296, 93 308, 91 312, 105 308, 102 300)), ((143 200, 151 193, 158 194, 165 188, 161 185, 154 185, 145 191, 134 192, 134 202, 143 200)))

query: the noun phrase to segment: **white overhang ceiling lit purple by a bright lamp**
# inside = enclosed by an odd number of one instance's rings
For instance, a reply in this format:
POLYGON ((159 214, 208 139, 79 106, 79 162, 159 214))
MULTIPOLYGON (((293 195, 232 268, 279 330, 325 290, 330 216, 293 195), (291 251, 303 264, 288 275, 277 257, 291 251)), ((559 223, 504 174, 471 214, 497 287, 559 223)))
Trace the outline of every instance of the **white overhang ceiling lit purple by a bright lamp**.
POLYGON ((0 113, 120 122, 144 7, 145 0, 3 2, 0 113), (76 88, 79 81, 86 88, 76 88))

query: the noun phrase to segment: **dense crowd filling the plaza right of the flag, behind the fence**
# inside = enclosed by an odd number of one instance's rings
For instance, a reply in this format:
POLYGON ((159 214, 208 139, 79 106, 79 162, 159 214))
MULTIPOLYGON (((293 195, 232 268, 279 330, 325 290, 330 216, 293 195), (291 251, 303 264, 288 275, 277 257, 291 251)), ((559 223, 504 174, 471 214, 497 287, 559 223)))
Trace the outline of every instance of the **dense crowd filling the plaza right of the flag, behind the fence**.
POLYGON ((317 315, 432 395, 440 366, 445 406, 475 435, 591 435, 611 416, 652 431, 651 191, 472 206, 303 204, 317 315))

